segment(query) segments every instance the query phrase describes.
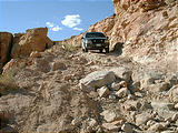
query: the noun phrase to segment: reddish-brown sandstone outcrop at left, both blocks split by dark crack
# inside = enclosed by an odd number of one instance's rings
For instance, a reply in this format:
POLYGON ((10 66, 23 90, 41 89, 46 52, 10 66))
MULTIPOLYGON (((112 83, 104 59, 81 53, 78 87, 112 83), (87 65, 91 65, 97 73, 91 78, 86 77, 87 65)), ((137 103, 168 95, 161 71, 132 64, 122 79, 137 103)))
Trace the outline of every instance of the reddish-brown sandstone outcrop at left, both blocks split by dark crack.
POLYGON ((10 59, 28 58, 53 45, 47 28, 29 29, 26 33, 0 32, 0 72, 10 59))

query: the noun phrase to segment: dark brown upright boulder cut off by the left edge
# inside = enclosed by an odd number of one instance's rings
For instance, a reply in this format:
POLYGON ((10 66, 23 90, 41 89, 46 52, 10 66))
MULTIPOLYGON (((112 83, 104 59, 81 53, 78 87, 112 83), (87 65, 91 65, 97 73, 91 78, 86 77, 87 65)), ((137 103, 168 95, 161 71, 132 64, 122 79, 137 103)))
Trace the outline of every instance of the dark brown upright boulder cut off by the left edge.
POLYGON ((0 32, 0 63, 6 63, 10 57, 13 35, 9 32, 0 32))

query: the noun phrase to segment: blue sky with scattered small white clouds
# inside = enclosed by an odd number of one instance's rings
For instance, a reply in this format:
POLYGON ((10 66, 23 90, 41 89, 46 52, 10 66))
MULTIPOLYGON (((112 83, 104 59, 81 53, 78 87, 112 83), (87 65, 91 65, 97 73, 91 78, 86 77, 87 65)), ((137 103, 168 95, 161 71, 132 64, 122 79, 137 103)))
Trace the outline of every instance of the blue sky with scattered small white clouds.
POLYGON ((0 32, 48 27, 48 37, 60 41, 113 13, 112 0, 0 0, 0 32))

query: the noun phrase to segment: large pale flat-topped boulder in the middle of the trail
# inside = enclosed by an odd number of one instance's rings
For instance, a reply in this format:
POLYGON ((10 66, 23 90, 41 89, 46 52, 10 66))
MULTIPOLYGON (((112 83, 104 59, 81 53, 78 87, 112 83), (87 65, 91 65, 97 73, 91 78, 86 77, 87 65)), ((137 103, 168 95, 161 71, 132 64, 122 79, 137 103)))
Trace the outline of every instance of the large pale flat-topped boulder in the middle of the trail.
POLYGON ((101 88, 103 85, 109 85, 116 81, 115 73, 108 70, 95 71, 88 74, 86 78, 80 80, 80 84, 88 88, 101 88))

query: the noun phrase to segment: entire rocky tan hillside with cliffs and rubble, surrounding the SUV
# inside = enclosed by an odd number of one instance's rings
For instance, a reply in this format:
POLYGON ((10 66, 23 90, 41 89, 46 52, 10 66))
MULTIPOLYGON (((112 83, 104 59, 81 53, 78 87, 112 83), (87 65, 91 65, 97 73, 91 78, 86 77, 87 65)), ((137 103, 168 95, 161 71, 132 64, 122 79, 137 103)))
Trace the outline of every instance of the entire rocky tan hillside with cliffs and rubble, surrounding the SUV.
POLYGON ((82 34, 53 45, 47 28, 0 32, 0 132, 178 132, 178 1, 113 7, 88 30, 110 53, 83 53, 82 34))

